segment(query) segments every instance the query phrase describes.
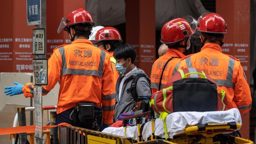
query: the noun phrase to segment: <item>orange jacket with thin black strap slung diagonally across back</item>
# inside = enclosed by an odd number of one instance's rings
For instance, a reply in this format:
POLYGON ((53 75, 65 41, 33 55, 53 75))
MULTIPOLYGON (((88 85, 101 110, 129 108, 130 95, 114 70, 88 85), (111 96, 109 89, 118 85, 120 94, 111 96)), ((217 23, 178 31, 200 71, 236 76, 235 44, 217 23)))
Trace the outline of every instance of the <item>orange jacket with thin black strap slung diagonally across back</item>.
POLYGON ((168 61, 168 59, 170 59, 171 57, 178 57, 178 58, 174 58, 171 61, 169 61, 165 67, 165 70, 163 72, 163 78, 161 81, 161 89, 163 89, 163 87, 165 86, 165 84, 167 83, 167 81, 169 79, 171 79, 171 77, 173 76, 173 74, 175 72, 177 72, 179 65, 179 62, 181 60, 181 58, 183 58, 185 55, 182 54, 180 51, 178 51, 177 49, 167 49, 166 54, 161 56, 160 58, 158 58, 154 64, 152 65, 152 70, 151 70, 151 83, 150 83, 150 88, 152 90, 152 94, 154 94, 155 92, 158 91, 158 87, 159 87, 159 82, 160 82, 160 77, 163 71, 163 67, 166 64, 166 62, 168 61))

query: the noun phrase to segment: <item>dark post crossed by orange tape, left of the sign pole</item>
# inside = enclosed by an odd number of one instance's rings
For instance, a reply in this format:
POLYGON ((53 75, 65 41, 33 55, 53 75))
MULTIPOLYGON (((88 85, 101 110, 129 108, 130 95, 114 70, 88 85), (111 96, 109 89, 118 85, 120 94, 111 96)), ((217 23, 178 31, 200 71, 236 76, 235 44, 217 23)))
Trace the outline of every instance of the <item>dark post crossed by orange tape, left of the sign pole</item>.
MULTIPOLYGON (((25 108, 17 108, 18 111, 18 124, 20 126, 26 126, 26 110, 25 108)), ((27 133, 19 133, 19 143, 27 143, 27 133)))

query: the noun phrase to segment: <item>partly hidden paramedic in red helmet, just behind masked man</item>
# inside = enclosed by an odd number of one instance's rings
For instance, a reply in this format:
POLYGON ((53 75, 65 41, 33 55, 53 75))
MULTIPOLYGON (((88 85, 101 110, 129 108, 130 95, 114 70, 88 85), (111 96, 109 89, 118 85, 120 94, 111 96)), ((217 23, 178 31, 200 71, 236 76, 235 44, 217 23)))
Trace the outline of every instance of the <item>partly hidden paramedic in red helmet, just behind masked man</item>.
POLYGON ((120 73, 115 69, 115 58, 113 56, 115 48, 120 42, 122 42, 121 35, 119 31, 113 27, 105 27, 99 29, 95 35, 94 44, 97 44, 97 47, 107 50, 110 53, 110 61, 112 64, 112 69, 114 73, 114 87, 116 85, 117 79, 120 73))

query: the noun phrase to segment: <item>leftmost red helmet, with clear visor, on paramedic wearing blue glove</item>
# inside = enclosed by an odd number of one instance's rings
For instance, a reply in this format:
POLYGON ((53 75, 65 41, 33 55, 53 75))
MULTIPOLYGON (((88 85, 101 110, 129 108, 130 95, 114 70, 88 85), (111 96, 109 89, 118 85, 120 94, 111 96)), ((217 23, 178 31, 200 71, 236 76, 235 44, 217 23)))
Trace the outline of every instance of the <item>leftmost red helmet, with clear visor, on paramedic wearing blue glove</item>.
MULTIPOLYGON (((94 25, 91 14, 83 8, 79 8, 77 10, 72 11, 67 17, 63 17, 61 19, 61 23, 58 27, 57 32, 60 33, 63 28, 65 31, 67 31, 67 28, 69 26, 75 24, 87 24, 87 26, 90 27, 94 25)), ((88 31, 90 29, 88 29, 88 27, 85 27, 84 30, 88 31)))

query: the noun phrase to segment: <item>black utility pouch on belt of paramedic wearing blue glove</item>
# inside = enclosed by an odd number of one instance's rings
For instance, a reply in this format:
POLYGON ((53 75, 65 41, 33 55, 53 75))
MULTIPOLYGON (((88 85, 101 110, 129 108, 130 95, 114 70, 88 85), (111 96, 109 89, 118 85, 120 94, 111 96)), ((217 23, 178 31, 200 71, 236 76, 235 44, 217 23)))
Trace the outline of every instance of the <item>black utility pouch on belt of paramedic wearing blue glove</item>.
POLYGON ((70 114, 70 119, 77 125, 99 131, 102 122, 102 110, 92 102, 79 102, 70 114))

